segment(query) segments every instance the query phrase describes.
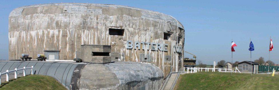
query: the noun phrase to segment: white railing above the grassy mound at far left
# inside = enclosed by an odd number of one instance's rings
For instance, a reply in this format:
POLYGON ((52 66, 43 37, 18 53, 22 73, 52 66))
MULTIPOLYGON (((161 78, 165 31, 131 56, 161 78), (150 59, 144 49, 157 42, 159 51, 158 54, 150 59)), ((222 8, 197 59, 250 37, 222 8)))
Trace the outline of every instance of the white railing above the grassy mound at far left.
POLYGON ((23 67, 22 69, 17 69, 17 68, 15 68, 15 70, 11 70, 11 71, 9 71, 9 70, 7 70, 6 72, 4 72, 4 73, 1 73, 0 74, 0 84, 1 84, 1 76, 2 75, 4 75, 4 74, 6 74, 6 81, 9 81, 9 73, 10 72, 15 72, 15 79, 17 79, 17 71, 20 71, 20 70, 23 70, 23 76, 25 76, 26 75, 26 69, 31 69, 31 75, 33 74, 33 68, 34 68, 34 66, 31 66, 31 67, 23 67))

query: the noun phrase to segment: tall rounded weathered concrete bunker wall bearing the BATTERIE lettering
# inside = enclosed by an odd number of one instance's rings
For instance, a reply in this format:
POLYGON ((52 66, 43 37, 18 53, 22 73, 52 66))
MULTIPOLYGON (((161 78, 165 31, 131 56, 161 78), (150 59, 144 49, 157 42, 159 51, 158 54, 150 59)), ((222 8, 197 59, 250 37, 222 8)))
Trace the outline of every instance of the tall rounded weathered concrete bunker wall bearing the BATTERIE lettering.
POLYGON ((19 59, 22 53, 35 59, 44 50, 55 50, 60 51, 60 60, 72 60, 81 45, 111 45, 111 56, 118 58, 115 60, 152 63, 168 75, 171 66, 174 71, 182 67, 184 27, 178 24, 179 32, 171 16, 120 5, 56 3, 19 7, 9 15, 9 59, 19 59), (109 28, 124 29, 124 35, 109 35, 109 28), (163 33, 171 33, 170 38, 164 40, 163 33), (177 37, 181 53, 173 47, 177 37), (128 40, 168 47, 167 51, 126 49, 128 40), (141 60, 141 54, 149 55, 151 60, 141 60), (171 60, 165 61, 166 55, 171 60))

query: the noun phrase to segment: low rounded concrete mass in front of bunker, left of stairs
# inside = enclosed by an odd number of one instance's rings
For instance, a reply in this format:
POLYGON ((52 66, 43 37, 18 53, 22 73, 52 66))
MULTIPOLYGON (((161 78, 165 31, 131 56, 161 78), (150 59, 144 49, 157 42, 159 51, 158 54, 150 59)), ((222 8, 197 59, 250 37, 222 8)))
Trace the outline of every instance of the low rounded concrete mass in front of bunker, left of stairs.
POLYGON ((163 78, 163 71, 151 64, 89 64, 81 70, 79 89, 159 90, 163 78))

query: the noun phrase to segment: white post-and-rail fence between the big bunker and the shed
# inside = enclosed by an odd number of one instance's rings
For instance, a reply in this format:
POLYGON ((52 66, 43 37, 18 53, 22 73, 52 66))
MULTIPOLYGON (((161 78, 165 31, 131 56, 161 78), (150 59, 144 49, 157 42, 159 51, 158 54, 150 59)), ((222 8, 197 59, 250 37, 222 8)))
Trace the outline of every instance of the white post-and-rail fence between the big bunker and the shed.
MULTIPOLYGON (((191 67, 191 68, 189 68, 189 67, 187 67, 187 68, 185 68, 184 67, 184 72, 185 72, 185 69, 187 69, 187 73, 189 73, 189 70, 191 70, 191 73, 197 73, 198 71, 203 71, 203 69, 205 70, 205 72, 209 72, 209 70, 212 70, 212 72, 215 72, 215 70, 217 70, 217 71, 219 71, 219 72, 221 72, 222 70, 225 70, 225 72, 227 72, 227 71, 232 71, 232 69, 221 69, 221 68, 200 68, 200 67, 191 67)), ((241 73, 239 70, 238 70, 238 68, 236 67, 236 70, 235 70, 235 73, 236 73, 236 71, 238 71, 239 73, 241 73)))

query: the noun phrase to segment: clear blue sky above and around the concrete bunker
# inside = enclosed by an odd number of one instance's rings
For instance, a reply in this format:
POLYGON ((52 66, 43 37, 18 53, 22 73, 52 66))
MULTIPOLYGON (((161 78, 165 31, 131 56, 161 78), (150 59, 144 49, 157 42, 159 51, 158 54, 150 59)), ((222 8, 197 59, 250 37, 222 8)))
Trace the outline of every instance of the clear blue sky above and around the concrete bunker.
MULTIPOLYGON (((115 4, 157 11, 171 15, 185 27, 185 50, 205 64, 213 61, 231 61, 231 39, 235 47, 234 61, 250 60, 250 38, 255 51, 252 60, 268 60, 269 38, 274 50, 270 59, 279 64, 279 1, 110 1, 110 0, 5 0, 0 5, 0 59, 8 59, 8 16, 21 6, 44 3, 100 3, 115 4)), ((192 57, 189 54, 186 57, 192 57)))

